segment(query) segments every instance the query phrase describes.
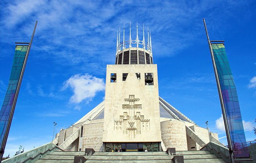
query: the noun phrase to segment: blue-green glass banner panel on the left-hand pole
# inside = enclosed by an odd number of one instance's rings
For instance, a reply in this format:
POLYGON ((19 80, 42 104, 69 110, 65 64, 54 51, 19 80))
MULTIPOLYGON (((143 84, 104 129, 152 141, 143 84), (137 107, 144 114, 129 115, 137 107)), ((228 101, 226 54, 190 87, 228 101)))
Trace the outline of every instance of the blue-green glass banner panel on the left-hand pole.
POLYGON ((14 59, 12 64, 11 76, 8 83, 8 88, 5 94, 4 102, 0 110, 0 145, 2 145, 7 123, 11 114, 12 105, 14 102, 15 92, 18 87, 18 82, 20 80, 21 70, 25 61, 25 56, 28 50, 28 45, 21 46, 16 45, 14 59))

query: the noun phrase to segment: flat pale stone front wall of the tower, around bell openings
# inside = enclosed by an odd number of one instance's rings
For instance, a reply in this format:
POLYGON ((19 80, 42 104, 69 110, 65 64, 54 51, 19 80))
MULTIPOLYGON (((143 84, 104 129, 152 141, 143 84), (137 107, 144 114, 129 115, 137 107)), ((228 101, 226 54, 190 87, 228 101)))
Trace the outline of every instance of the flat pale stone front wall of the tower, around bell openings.
POLYGON ((107 65, 103 142, 161 142, 159 110, 156 64, 107 65), (111 73, 116 82, 110 82, 111 73), (128 73, 126 81, 122 73, 128 73), (153 73, 154 85, 145 85, 145 73, 153 73), (129 95, 139 100, 124 101, 129 95), (140 107, 128 108, 131 103, 140 107))

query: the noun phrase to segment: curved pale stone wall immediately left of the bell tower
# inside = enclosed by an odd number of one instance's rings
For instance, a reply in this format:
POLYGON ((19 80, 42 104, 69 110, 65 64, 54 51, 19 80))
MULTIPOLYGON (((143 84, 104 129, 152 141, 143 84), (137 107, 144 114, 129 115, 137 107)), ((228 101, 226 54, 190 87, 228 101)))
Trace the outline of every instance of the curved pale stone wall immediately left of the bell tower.
POLYGON ((83 125, 82 151, 93 148, 99 151, 102 145, 103 123, 90 123, 83 125))

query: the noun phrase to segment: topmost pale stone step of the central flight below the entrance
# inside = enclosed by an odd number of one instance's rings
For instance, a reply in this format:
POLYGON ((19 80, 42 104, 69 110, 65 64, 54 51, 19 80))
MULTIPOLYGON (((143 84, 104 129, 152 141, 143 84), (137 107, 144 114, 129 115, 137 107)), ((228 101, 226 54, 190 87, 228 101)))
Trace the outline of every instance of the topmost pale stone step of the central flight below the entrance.
POLYGON ((144 156, 144 155, 168 155, 167 152, 95 152, 93 156, 144 156))

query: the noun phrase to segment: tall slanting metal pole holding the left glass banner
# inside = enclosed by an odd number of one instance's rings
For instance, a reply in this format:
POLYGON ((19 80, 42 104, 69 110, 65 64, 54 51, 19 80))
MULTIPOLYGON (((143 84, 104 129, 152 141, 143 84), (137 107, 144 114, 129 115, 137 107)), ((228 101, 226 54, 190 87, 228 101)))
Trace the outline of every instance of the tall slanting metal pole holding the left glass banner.
POLYGON ((19 91, 20 91, 20 85, 21 85, 22 77, 23 77, 23 74, 24 74, 24 70, 25 70, 25 67, 26 67, 27 60, 28 60, 29 50, 30 50, 30 47, 31 47, 31 44, 32 44, 32 41, 33 41, 33 38, 34 38, 36 25, 37 25, 37 21, 35 21, 35 27, 34 27, 34 30, 33 30, 33 34, 32 34, 30 43, 28 45, 28 50, 27 50, 27 53, 26 53, 26 56, 25 56, 25 61, 24 61, 23 66, 22 66, 22 70, 21 70, 17 90, 16 90, 15 95, 14 95, 14 100, 13 100, 13 104, 12 104, 11 113, 10 113, 10 116, 9 116, 9 120, 8 120, 6 131, 5 131, 5 136, 4 136, 4 139, 3 139, 3 142, 2 142, 2 146, 1 146, 0 163, 2 162, 2 158, 3 158, 4 152, 5 152, 5 146, 6 146, 7 138, 8 138, 8 135, 9 135, 9 130, 10 130, 11 123, 12 123, 14 109, 15 109, 15 106, 16 106, 16 102, 17 102, 17 99, 18 99, 19 91))

